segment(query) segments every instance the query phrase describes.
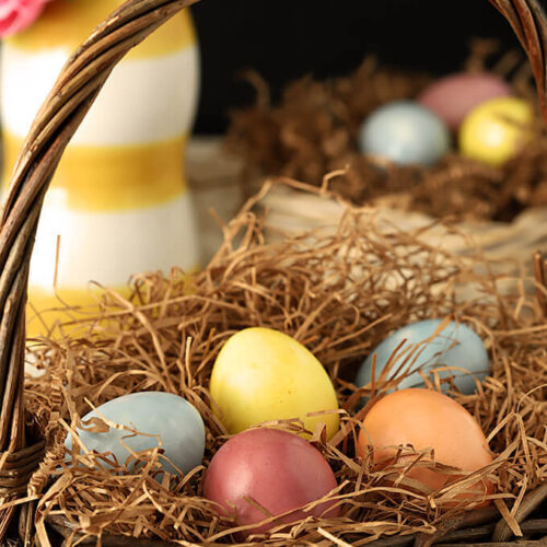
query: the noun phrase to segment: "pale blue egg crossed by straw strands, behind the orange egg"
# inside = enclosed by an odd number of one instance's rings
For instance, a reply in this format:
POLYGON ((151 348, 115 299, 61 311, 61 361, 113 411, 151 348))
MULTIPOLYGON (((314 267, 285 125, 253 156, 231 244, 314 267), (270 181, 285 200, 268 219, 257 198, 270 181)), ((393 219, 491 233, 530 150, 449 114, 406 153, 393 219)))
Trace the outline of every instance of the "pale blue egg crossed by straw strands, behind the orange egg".
MULTIPOLYGON (((374 379, 377 380, 396 351, 389 362, 387 379, 409 372, 400 380, 397 387, 423 386, 423 377, 419 372, 421 370, 431 381, 434 381, 434 374, 441 380, 453 376, 454 384, 462 393, 474 393, 477 386, 475 379, 482 381, 490 369, 482 340, 470 327, 453 321, 439 330, 442 322, 443 319, 420 321, 393 333, 364 360, 357 374, 356 385, 361 387, 372 381, 374 356, 376 359, 374 379), (433 369, 442 366, 457 366, 465 370, 432 373, 433 369)), ((447 383, 441 385, 443 389, 449 388, 447 383)))

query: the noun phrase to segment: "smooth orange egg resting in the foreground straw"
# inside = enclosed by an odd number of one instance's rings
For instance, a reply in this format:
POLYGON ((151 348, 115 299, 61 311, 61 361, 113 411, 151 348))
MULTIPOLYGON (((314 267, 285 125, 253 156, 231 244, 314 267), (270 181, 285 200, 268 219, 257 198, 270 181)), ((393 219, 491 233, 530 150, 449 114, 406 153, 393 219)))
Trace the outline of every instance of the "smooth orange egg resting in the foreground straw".
MULTIPOLYGON (((433 449, 437 463, 475 472, 491 463, 485 434, 475 418, 454 399, 429 389, 400 389, 380 399, 363 420, 359 433, 358 453, 364 455, 372 443, 377 469, 394 463, 395 446, 412 445, 416 451, 433 449), (391 447, 387 447, 391 446, 391 447)), ((415 461, 401 456, 400 461, 415 461)), ((439 490, 461 478, 437 469, 415 466, 407 477, 439 490)), ((487 505, 484 496, 493 491, 489 480, 481 479, 458 493, 455 499, 477 500, 476 507, 487 505)), ((457 502, 446 503, 446 507, 457 502)))

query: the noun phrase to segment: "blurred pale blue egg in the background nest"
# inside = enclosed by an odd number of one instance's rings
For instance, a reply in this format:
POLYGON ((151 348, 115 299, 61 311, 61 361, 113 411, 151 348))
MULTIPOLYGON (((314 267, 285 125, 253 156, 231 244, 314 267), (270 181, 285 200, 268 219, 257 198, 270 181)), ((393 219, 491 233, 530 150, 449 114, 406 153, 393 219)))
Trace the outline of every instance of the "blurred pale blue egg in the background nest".
POLYGON ((450 131, 428 108, 395 101, 376 108, 359 130, 359 150, 400 165, 431 165, 450 148, 450 131))

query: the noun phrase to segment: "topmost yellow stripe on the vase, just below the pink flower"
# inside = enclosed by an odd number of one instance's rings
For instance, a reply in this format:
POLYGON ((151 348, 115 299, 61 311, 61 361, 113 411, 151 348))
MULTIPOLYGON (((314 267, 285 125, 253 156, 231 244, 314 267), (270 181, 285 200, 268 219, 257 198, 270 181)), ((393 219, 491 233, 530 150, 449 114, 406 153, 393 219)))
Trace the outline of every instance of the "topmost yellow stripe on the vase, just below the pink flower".
MULTIPOLYGON (((124 0, 56 0, 48 2, 38 21, 9 39, 20 49, 32 51, 62 47, 74 50, 124 0)), ((128 58, 168 55, 196 44, 196 31, 188 10, 175 15, 128 58)))

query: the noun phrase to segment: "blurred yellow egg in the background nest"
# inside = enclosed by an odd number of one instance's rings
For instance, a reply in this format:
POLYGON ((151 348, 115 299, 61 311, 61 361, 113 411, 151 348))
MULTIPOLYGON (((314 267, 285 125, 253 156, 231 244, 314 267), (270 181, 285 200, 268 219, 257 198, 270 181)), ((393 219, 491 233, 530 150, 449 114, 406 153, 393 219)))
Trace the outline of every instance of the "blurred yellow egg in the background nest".
POLYGON ((459 150, 468 158, 501 165, 531 139, 533 112, 516 97, 499 97, 475 107, 459 129, 459 150))

